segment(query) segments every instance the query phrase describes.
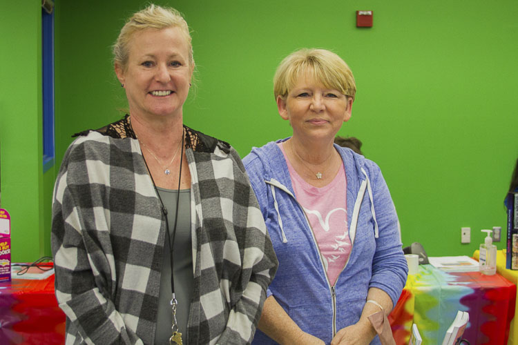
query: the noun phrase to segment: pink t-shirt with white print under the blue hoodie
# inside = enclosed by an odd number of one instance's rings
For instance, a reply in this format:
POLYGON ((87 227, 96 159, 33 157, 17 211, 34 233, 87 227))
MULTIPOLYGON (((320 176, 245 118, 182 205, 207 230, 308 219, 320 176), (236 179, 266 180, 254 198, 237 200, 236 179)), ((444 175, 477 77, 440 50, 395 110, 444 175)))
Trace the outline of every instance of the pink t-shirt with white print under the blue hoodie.
POLYGON ((347 180, 343 164, 327 186, 318 188, 308 184, 295 171, 282 143, 278 144, 288 165, 295 197, 309 219, 316 243, 320 249, 329 283, 333 286, 345 267, 351 253, 347 226, 347 180))

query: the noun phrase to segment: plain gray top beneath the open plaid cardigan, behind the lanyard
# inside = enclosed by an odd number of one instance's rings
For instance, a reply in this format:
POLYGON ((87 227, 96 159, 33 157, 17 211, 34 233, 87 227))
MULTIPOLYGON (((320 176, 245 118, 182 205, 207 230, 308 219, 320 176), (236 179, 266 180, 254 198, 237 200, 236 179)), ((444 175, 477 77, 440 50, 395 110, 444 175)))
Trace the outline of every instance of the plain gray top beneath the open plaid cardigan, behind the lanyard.
MULTIPOLYGON (((167 209, 167 221, 169 223, 169 235, 173 240, 173 228, 175 225, 176 198, 178 190, 158 188, 158 194, 162 198, 167 209)), ((166 237, 167 239, 168 237, 166 237)), ((173 263, 175 280, 175 297, 178 300, 176 320, 182 333, 183 344, 189 344, 187 339, 187 321, 189 320, 189 307, 193 296, 193 255, 191 239, 191 190, 180 190, 180 203, 178 206, 178 222, 174 237, 173 263)), ((155 330, 155 344, 169 344, 171 337, 171 244, 165 243, 164 259, 162 260, 162 273, 160 275, 160 293, 158 295, 157 328, 155 330)))

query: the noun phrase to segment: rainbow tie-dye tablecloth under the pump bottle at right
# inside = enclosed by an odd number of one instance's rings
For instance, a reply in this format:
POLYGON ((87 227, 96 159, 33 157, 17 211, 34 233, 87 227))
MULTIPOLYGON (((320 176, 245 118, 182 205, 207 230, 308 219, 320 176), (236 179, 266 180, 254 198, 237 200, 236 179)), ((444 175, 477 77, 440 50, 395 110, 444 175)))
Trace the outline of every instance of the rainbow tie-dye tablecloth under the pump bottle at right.
POLYGON ((508 341, 515 302, 516 285, 501 275, 446 273, 420 265, 419 273, 409 275, 389 321, 397 344, 408 344, 414 322, 423 344, 441 345, 457 311, 467 311, 470 323, 463 338, 471 345, 501 345, 508 341))

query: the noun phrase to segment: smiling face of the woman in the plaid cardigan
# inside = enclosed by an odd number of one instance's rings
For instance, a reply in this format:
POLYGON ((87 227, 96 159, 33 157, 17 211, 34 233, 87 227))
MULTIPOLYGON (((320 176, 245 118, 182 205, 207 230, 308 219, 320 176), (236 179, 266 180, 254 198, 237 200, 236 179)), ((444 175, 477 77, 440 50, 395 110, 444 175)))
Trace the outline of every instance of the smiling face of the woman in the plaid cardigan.
POLYGON ((130 115, 182 116, 193 68, 189 44, 179 28, 135 32, 126 66, 115 65, 126 89, 130 115))

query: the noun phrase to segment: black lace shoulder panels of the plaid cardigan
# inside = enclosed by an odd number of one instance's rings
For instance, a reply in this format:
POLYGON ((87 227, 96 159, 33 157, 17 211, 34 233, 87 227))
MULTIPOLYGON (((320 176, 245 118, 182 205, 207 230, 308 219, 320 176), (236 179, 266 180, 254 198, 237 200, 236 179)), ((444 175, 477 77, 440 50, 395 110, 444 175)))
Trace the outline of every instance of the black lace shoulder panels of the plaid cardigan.
MULTIPOLYGON (((192 148, 196 152, 214 152, 216 146, 223 152, 230 152, 230 145, 226 141, 218 140, 209 135, 205 135, 198 130, 193 130, 184 125, 185 130, 185 149, 192 148)), ((73 137, 79 137, 81 135, 88 135, 91 130, 84 130, 79 133, 75 133, 73 137)), ((123 119, 115 121, 108 126, 104 126, 95 130, 102 135, 107 135, 115 139, 132 138, 137 139, 133 128, 131 128, 130 117, 126 115, 123 119)))

